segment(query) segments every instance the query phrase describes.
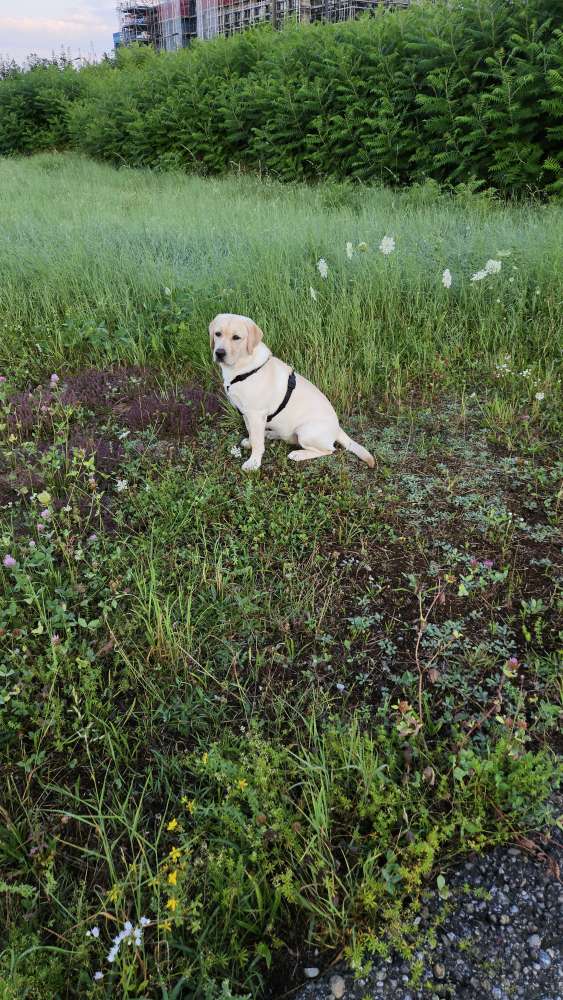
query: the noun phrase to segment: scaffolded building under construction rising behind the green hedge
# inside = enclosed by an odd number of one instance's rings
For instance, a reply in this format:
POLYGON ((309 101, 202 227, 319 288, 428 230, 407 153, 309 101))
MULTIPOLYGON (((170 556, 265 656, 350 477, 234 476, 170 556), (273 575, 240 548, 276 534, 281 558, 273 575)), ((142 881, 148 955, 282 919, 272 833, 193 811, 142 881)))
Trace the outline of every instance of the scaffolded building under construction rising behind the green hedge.
POLYGON ((137 0, 118 4, 119 44, 174 51, 194 38, 232 35, 270 22, 349 21, 378 8, 407 7, 409 0, 137 0))

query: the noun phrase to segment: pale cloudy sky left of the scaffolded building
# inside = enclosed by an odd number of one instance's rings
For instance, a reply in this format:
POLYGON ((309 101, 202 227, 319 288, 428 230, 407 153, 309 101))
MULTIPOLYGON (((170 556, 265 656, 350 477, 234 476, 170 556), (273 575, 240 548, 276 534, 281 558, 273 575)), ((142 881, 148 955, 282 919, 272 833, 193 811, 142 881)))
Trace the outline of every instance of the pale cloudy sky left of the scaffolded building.
POLYGON ((22 63, 30 53, 100 58, 113 48, 114 0, 0 0, 0 59, 22 63))

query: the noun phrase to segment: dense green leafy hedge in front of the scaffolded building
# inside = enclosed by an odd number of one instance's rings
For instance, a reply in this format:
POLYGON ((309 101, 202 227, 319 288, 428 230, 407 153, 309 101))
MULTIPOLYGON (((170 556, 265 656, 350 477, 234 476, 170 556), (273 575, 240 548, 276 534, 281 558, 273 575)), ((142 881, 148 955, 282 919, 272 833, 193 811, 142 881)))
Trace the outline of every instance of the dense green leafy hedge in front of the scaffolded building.
POLYGON ((439 0, 0 83, 0 152, 73 145, 132 166, 284 180, 563 187, 553 0, 439 0))

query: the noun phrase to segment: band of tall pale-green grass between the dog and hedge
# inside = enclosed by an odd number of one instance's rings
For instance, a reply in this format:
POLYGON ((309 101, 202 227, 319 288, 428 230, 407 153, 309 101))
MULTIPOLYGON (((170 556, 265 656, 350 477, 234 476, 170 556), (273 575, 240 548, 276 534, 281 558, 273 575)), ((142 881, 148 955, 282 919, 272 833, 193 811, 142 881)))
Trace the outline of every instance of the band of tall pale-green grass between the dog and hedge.
POLYGON ((437 364, 471 381, 503 352, 548 368, 556 356, 555 205, 432 184, 204 180, 57 154, 1 160, 0 192, 0 359, 22 373, 108 356, 207 371, 218 311, 252 315, 340 402, 437 364), (497 257, 500 274, 471 281, 497 257))

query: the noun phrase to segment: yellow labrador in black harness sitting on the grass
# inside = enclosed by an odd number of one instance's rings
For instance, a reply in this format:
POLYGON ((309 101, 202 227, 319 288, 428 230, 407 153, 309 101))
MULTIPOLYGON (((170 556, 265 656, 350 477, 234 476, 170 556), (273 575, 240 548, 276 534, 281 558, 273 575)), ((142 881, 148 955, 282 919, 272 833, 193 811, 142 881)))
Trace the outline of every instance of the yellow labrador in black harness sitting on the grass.
POLYGON ((209 324, 209 338, 227 397, 248 431, 242 445, 251 452, 243 469, 260 468, 266 439, 299 444, 289 453, 295 462, 330 455, 337 443, 373 468, 373 456, 344 433, 326 396, 273 356, 248 316, 219 313, 209 324))

